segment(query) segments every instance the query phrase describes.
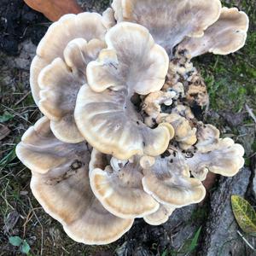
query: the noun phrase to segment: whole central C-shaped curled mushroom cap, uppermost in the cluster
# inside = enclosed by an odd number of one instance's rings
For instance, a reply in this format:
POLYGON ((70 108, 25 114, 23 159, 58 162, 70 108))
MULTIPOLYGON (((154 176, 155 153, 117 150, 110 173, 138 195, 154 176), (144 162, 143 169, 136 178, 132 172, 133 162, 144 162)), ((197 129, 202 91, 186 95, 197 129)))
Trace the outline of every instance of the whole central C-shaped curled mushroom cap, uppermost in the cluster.
POLYGON ((106 42, 108 49, 87 66, 90 88, 79 90, 75 108, 79 131, 94 148, 120 160, 163 153, 171 126, 149 129, 131 96, 160 90, 168 68, 166 51, 154 44, 146 28, 128 22, 113 26, 106 42))

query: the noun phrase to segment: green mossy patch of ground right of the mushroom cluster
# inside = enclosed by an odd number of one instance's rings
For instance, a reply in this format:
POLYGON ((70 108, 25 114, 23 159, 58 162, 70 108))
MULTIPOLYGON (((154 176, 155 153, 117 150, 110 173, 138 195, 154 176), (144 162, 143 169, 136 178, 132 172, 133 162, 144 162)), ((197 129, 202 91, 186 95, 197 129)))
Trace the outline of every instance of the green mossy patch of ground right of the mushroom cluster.
MULTIPOLYGON (((237 1, 222 2, 230 7, 237 1)), ((252 8, 255 4, 256 1, 243 0, 239 6, 250 19, 247 43, 241 50, 231 55, 202 55, 195 60, 207 83, 210 108, 216 111, 240 112, 245 103, 256 109, 256 15, 252 8)))

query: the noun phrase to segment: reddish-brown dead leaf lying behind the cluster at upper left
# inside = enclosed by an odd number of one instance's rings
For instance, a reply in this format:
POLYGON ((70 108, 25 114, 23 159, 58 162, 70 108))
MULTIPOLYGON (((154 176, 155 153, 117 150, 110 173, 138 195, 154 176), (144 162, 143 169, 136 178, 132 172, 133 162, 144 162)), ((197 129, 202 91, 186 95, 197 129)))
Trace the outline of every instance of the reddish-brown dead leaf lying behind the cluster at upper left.
POLYGON ((76 0, 24 0, 32 9, 43 13, 51 21, 56 21, 62 15, 79 14, 83 10, 76 0))

